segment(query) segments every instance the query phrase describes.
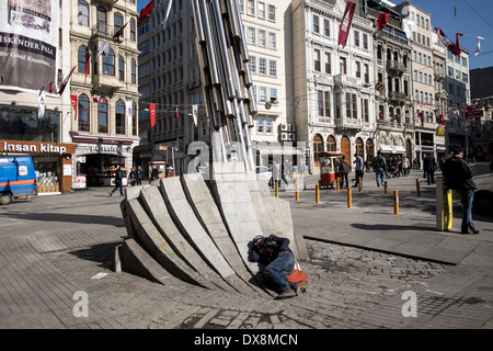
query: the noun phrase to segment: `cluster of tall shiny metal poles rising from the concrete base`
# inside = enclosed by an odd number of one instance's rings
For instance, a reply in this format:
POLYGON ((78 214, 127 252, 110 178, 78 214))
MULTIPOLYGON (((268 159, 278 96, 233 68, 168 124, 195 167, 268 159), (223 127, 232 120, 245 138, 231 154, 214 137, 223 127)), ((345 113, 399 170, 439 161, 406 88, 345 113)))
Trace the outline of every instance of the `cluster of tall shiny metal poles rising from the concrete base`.
POLYGON ((253 170, 250 128, 257 110, 237 0, 192 0, 192 5, 213 160, 227 162, 227 147, 236 144, 245 169, 253 170))

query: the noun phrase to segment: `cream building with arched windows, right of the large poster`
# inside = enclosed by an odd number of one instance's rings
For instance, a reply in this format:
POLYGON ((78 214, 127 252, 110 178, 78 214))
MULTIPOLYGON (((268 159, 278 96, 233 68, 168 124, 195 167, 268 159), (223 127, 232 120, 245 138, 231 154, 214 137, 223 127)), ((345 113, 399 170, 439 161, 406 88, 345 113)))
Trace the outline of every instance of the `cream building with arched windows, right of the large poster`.
POLYGON ((85 176, 88 185, 110 185, 117 165, 131 169, 139 143, 137 3, 72 0, 70 9, 74 176, 85 176))

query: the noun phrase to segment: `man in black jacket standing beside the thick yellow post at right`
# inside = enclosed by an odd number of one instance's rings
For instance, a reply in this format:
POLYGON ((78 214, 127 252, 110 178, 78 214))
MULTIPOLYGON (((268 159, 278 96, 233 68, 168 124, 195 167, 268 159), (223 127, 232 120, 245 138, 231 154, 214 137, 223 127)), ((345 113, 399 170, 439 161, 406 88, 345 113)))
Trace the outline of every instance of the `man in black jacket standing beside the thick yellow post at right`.
POLYGON ((478 234, 472 222, 472 201, 474 190, 477 189, 472 180, 472 170, 462 159, 463 151, 455 149, 452 155, 444 162, 443 174, 449 189, 457 190, 462 203, 462 224, 460 226, 462 234, 478 234))

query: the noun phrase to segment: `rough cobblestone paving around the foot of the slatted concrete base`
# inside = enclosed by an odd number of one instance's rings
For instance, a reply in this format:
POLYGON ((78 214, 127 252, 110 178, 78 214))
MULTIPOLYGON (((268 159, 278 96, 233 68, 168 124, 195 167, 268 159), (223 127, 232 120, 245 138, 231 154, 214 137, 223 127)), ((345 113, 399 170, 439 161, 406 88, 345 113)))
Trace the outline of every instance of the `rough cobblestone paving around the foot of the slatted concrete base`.
POLYGON ((111 270, 114 244, 53 252, 46 259, 125 328, 331 328, 447 269, 314 240, 307 240, 307 246, 311 258, 302 263, 309 275, 307 293, 284 302, 210 293, 180 281, 162 286, 125 272, 116 274, 111 270), (108 275, 90 279, 98 273, 108 275))

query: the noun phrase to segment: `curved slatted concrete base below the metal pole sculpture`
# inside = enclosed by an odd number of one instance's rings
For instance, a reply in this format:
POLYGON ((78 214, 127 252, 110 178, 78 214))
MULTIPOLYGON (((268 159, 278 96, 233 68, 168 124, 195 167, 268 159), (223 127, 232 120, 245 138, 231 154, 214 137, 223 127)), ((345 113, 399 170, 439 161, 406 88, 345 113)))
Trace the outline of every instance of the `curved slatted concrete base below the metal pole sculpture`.
POLYGON ((297 260, 308 258, 302 237, 293 230, 289 203, 271 196, 242 162, 215 163, 213 171, 214 180, 207 183, 196 173, 127 188, 121 210, 131 241, 122 247, 126 254, 121 259, 127 261, 122 267, 153 281, 172 282, 151 267, 151 257, 191 284, 274 295, 259 287, 259 265, 248 260, 249 247, 256 235, 275 234, 289 238, 297 260))

